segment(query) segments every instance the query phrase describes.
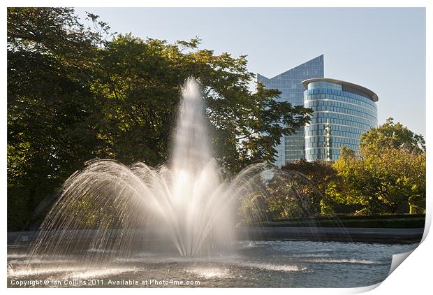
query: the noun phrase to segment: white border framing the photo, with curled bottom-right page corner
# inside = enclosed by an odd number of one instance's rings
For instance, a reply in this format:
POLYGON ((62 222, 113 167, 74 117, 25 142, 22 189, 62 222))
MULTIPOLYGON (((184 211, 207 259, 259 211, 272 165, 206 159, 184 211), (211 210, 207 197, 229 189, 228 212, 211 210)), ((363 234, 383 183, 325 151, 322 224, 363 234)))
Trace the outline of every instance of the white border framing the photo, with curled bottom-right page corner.
MULTIPOLYGON (((280 7, 280 6, 291 6, 291 7, 427 7, 427 73, 426 80, 432 81, 432 1, 428 0, 412 0, 412 1, 403 1, 403 0, 365 0, 365 1, 344 1, 344 0, 335 0, 335 1, 319 1, 319 0, 310 0, 310 1, 283 1, 283 0, 268 0, 268 1, 242 1, 242 0, 220 0, 220 1, 199 1, 199 0, 184 0, 184 1, 176 1, 176 0, 160 0, 160 1, 145 1, 138 2, 132 0, 123 0, 123 1, 53 1, 53 0, 45 0, 45 1, 24 1, 24 0, 15 0, 15 1, 2 1, 3 3, 3 14, 4 18, 2 25, 3 30, 1 31, 2 40, 6 43, 6 6, 75 6, 75 7, 138 7, 138 6, 147 6, 147 7, 280 7)), ((402 20, 404 21, 404 20, 402 20)), ((1 59, 1 64, 3 66, 3 108, 0 108, 0 117, 3 122, 3 132, 1 133, 1 164, 3 169, 1 170, 1 196, 3 201, 3 206, 1 206, 1 216, 3 219, 3 240, 0 242, 5 250, 3 250, 4 254, 1 257, 3 267, 1 268, 1 273, 3 274, 2 284, 3 288, 6 289, 6 44, 3 44, 3 58, 1 59)), ((426 96, 431 99, 431 87, 427 87, 426 96)), ((430 101, 427 99, 426 101, 426 110, 432 110, 433 106, 430 101)), ((427 125, 432 126, 431 117, 427 116, 427 125)), ((432 148, 430 147, 430 138, 432 138, 431 129, 426 130, 426 141, 427 141, 427 183, 432 183, 432 169, 431 169, 431 157, 430 154, 432 152, 432 148)), ((430 199, 432 196, 432 189, 430 189, 430 185, 427 185, 427 220, 426 220, 426 230, 425 234, 430 229, 430 224, 432 221, 432 210, 433 210, 433 202, 430 199)), ((270 289, 269 292, 277 293, 277 294, 287 294, 290 292, 291 294, 354 294, 359 292, 365 292, 369 289, 372 290, 372 294, 425 294, 428 292, 427 290, 431 289, 431 275, 430 267, 432 266, 432 238, 430 236, 424 236, 425 240, 423 243, 410 255, 409 259, 406 259, 402 266, 399 266, 389 278, 387 278, 379 287, 363 287, 363 288, 353 288, 353 289, 270 289), (374 289, 376 287, 376 289, 374 289)), ((152 289, 152 292, 155 293, 165 293, 169 292, 169 289, 152 289)), ((85 293, 94 293, 100 292, 101 290, 93 290, 93 289, 80 289, 79 292, 85 293)), ((173 290, 174 291, 174 290, 173 290)), ((239 292, 237 289, 176 289, 175 292, 179 292, 180 294, 190 294, 190 293, 200 293, 203 292, 216 294, 217 292, 230 292, 235 293, 239 292)), ((36 292, 36 293, 52 293, 59 292, 59 289, 7 289, 7 292, 10 293, 24 293, 24 292, 36 292)), ((75 293, 78 292, 78 289, 61 289, 63 293, 75 293)), ((108 292, 112 294, 117 294, 122 292, 119 289, 104 289, 103 292, 108 292)), ((127 292, 149 292, 148 289, 129 289, 127 292)), ((263 289, 248 289, 242 290, 242 292, 267 292, 267 290, 263 289)))

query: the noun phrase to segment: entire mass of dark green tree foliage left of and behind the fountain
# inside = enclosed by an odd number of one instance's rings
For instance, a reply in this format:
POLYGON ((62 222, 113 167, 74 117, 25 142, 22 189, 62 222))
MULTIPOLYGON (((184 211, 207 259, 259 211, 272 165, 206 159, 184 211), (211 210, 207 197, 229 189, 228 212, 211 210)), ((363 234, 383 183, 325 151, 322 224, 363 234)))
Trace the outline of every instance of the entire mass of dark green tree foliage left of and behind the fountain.
POLYGON ((200 39, 168 43, 110 27, 71 8, 8 8, 8 229, 85 161, 168 161, 179 87, 200 80, 217 159, 230 171, 272 160, 282 134, 311 110, 249 85, 247 57, 201 49, 200 39), (283 127, 284 126, 284 127, 283 127))

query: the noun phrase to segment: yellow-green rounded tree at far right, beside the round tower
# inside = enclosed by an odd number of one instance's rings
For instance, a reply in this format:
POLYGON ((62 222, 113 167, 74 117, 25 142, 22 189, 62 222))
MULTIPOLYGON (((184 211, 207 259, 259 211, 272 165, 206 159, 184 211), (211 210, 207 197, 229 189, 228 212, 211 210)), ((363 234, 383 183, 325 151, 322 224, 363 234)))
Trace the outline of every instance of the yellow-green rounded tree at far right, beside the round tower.
POLYGON ((425 207, 425 144, 388 119, 360 138, 360 152, 342 149, 334 168, 360 213, 420 213, 425 207))

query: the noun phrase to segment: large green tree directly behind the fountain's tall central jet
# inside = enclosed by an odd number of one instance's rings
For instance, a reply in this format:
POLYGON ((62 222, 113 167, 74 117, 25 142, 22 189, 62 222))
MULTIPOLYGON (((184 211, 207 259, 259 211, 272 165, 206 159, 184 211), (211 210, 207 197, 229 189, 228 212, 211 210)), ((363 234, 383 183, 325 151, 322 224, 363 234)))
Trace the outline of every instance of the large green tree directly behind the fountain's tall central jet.
POLYGON ((244 56, 214 55, 189 42, 119 35, 101 54, 101 73, 94 89, 104 99, 99 135, 124 163, 168 161, 179 105, 179 87, 193 76, 200 81, 217 158, 230 171, 254 161, 272 161, 281 134, 309 121, 311 110, 277 102, 277 90, 258 85, 244 56))

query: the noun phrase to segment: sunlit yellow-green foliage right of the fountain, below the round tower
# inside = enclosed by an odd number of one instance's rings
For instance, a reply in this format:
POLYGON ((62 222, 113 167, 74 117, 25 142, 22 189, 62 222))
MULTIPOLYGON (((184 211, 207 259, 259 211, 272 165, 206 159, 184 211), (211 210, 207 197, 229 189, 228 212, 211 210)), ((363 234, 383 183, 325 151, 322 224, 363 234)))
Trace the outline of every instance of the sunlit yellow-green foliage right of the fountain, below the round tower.
MULTIPOLYGON (((342 147, 334 164, 302 160, 282 169, 316 185, 322 198, 311 208, 321 215, 425 213, 425 163, 423 136, 389 118, 362 134, 358 154, 342 147)), ((280 204, 281 214, 286 207, 280 204)))

